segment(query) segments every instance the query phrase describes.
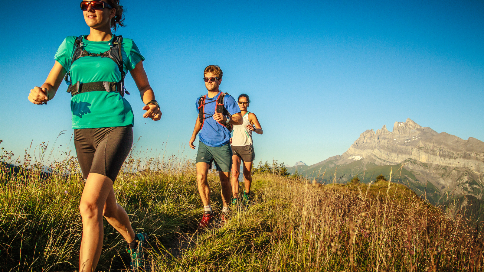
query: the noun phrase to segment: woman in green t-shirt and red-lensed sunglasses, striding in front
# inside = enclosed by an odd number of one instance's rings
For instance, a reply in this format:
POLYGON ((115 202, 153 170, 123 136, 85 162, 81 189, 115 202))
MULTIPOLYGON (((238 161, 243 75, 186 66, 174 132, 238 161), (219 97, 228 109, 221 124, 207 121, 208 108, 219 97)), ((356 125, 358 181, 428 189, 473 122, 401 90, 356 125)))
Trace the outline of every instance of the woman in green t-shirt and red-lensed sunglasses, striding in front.
POLYGON ((30 90, 29 100, 37 105, 47 104, 66 73, 71 76, 68 91, 72 95, 74 142, 86 181, 79 205, 79 272, 96 268, 103 245, 103 216, 128 242, 133 271, 144 271, 149 268, 143 251, 146 234, 135 234, 127 213, 116 203, 113 190, 113 182, 133 144, 133 110, 123 98, 123 78, 128 71, 146 104, 143 117, 158 121, 162 113, 137 46, 131 39, 111 33, 111 28, 124 26, 119 0, 82 1, 80 6, 90 34, 67 37, 62 42, 45 83, 30 90))

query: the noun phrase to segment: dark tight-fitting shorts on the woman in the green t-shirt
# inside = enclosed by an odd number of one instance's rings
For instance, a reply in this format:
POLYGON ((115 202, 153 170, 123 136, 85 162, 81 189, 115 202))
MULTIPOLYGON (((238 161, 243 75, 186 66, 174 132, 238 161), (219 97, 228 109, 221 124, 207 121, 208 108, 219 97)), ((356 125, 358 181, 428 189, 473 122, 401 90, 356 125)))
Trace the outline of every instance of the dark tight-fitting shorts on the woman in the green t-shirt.
POLYGON ((115 181, 133 144, 133 126, 79 128, 74 145, 82 175, 97 173, 115 181))

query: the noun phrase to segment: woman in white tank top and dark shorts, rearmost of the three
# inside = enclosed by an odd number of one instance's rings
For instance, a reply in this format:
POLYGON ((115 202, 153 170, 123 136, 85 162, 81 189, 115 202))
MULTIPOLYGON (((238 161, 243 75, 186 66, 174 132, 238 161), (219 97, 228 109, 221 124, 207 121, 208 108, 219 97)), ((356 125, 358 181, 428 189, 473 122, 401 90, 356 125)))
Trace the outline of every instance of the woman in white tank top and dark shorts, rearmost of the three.
POLYGON ((252 183, 251 169, 254 163, 255 153, 252 145, 252 132, 262 134, 262 127, 257 120, 257 116, 249 112, 249 96, 245 93, 239 95, 239 107, 243 119, 242 125, 234 125, 230 146, 232 147, 232 205, 237 205, 239 196, 239 175, 241 160, 243 161, 243 177, 245 190, 242 196, 242 204, 249 205, 250 185, 252 183))

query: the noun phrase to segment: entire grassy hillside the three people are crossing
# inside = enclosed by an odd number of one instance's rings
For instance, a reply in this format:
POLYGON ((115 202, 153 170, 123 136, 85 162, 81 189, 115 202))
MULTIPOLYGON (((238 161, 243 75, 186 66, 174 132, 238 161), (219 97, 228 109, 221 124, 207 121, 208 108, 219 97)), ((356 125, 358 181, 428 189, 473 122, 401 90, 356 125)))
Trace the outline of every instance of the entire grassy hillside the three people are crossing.
MULTIPOLYGON (((56 174, 68 165, 47 178, 35 168, 8 181, 0 173, 2 272, 76 269, 83 182, 56 174)), ((193 164, 130 158, 125 166, 131 170, 115 191, 136 231, 150 234, 153 271, 475 271, 483 261, 480 231, 403 185, 312 186, 259 175, 250 209, 197 232, 202 203, 193 164)), ((215 173, 209 182, 217 206, 215 173)), ((107 224, 105 233, 98 271, 122 271, 125 243, 107 224)))

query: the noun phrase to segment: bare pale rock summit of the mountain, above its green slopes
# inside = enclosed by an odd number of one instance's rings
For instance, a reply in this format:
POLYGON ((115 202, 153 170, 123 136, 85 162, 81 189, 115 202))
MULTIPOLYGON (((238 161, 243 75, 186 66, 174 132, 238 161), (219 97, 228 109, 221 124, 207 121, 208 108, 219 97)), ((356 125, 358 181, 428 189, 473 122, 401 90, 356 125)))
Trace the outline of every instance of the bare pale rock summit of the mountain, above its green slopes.
POLYGON ((411 159, 480 172, 484 171, 484 143, 475 138, 463 140, 445 132, 439 134, 407 119, 395 122, 392 132, 386 126, 376 133, 366 130, 336 164, 362 158, 377 165, 399 164, 411 159))

